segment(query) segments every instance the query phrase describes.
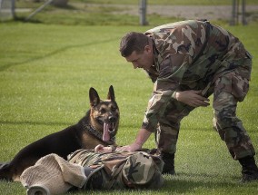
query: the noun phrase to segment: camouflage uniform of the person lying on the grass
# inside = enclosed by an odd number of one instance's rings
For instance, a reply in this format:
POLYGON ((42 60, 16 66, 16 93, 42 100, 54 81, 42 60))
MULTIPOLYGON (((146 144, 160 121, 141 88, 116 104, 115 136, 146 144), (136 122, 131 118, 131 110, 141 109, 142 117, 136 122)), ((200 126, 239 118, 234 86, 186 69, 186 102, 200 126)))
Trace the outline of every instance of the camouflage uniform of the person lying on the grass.
POLYGON ((160 188, 164 183, 164 161, 145 151, 94 152, 78 150, 68 156, 68 161, 94 169, 84 184, 84 190, 114 190, 134 188, 160 188))

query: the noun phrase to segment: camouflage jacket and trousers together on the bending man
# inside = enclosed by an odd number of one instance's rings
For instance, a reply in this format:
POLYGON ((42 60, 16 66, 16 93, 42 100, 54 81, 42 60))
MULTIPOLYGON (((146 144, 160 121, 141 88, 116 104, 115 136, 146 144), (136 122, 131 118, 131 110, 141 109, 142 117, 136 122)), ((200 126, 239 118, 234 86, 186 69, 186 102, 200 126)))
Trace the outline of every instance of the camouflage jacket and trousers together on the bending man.
POLYGON ((147 72, 154 92, 143 128, 156 132, 158 148, 176 151, 180 122, 193 107, 174 99, 176 91, 213 93, 213 128, 225 141, 233 159, 253 156, 254 149, 235 115, 249 89, 252 56, 223 28, 208 21, 164 24, 145 32, 154 43, 154 64, 147 72))

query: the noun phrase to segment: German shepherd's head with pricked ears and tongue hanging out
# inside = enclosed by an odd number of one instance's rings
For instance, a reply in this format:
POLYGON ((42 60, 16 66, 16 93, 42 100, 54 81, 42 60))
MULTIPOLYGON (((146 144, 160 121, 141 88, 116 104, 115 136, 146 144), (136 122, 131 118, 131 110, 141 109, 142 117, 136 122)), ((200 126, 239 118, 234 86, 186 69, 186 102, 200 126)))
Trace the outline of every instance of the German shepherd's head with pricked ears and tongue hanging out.
POLYGON ((91 104, 91 125, 103 133, 103 141, 110 141, 118 130, 119 108, 114 98, 114 88, 111 85, 106 100, 100 100, 94 88, 89 91, 91 104))

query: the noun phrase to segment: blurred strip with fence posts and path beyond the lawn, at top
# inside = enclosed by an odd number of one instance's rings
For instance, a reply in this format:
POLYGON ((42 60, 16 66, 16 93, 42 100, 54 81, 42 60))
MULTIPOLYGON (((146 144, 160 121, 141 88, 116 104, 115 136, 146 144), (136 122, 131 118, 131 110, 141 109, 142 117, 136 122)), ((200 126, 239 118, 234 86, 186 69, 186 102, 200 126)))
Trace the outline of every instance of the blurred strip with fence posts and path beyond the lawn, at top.
POLYGON ((184 19, 258 21, 257 0, 0 0, 2 22, 155 25, 184 19))

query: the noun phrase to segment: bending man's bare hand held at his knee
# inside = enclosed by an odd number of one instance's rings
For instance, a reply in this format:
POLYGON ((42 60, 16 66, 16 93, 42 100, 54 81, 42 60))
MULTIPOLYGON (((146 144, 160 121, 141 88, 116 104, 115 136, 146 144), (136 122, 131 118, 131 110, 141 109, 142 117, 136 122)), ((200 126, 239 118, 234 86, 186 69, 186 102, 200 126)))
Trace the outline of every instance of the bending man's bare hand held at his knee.
POLYGON ((175 98, 179 102, 184 102, 187 105, 193 107, 203 106, 206 107, 210 105, 210 100, 202 96, 202 91, 183 91, 183 92, 176 92, 175 98))

